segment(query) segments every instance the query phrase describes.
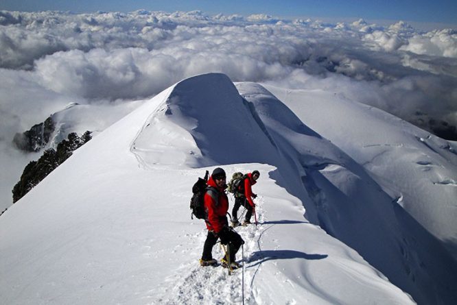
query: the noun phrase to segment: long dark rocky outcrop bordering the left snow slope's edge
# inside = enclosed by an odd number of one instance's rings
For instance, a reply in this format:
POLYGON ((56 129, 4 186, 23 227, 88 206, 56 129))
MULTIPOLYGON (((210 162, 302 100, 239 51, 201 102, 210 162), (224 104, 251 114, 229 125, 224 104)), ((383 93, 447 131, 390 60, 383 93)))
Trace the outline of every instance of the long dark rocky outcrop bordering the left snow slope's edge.
POLYGON ((46 149, 37 161, 31 161, 25 167, 21 180, 14 186, 12 190, 13 203, 21 199, 34 186, 45 179, 51 171, 54 171, 60 164, 65 162, 73 151, 91 140, 91 132, 87 131, 82 136, 78 136, 75 132, 68 135, 67 140, 60 142, 57 149, 46 149))

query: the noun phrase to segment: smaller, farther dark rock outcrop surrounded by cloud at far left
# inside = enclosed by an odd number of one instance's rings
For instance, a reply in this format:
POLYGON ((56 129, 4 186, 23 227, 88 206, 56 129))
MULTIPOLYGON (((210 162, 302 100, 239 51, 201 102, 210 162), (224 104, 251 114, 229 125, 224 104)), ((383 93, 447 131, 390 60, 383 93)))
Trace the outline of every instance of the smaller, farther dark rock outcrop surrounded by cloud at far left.
POLYGON ((56 125, 52 117, 49 117, 44 123, 36 124, 26 132, 17 133, 14 136, 13 143, 23 151, 40 151, 49 143, 54 130, 56 130, 56 125))

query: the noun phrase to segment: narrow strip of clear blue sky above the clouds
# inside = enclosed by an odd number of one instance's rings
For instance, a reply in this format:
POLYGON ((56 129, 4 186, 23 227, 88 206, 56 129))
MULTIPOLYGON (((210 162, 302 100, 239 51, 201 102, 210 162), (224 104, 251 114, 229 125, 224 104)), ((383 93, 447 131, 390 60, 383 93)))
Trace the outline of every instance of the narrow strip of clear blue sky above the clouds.
POLYGON ((0 10, 69 10, 72 12, 133 10, 202 10, 209 14, 270 14, 280 17, 325 17, 403 20, 457 24, 456 0, 1 0, 0 10))

